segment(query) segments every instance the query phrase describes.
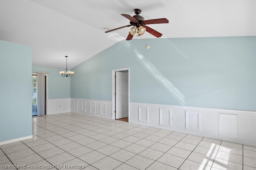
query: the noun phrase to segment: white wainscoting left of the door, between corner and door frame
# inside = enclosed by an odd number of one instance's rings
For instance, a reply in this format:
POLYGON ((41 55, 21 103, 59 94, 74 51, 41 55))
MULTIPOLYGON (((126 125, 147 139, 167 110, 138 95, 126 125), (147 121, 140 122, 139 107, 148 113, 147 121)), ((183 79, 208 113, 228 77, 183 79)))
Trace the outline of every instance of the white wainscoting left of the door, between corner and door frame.
POLYGON ((112 101, 91 99, 70 99, 71 112, 92 115, 97 117, 112 118, 112 101))

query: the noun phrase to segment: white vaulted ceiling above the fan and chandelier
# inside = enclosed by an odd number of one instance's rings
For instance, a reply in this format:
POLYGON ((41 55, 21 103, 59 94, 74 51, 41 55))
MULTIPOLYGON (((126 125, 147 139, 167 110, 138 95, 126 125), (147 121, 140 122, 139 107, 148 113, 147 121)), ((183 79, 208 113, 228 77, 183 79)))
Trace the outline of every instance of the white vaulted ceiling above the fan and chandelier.
MULTIPOLYGON (((129 24, 120 14, 142 10, 148 25, 171 37, 256 35, 255 0, 0 0, 0 39, 32 47, 32 64, 68 68, 126 39, 129 24)), ((133 39, 155 38, 145 33, 133 39)), ((133 40, 131 40, 133 41, 133 40)))

